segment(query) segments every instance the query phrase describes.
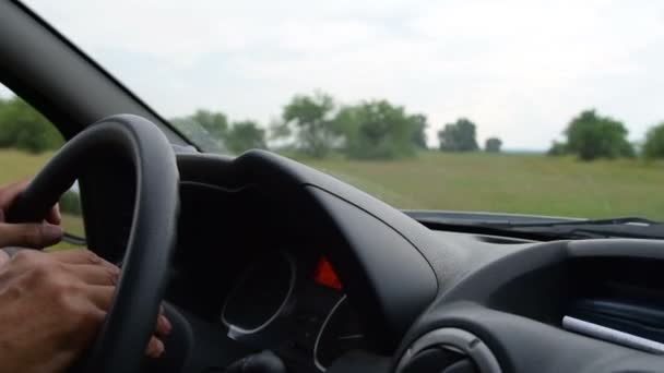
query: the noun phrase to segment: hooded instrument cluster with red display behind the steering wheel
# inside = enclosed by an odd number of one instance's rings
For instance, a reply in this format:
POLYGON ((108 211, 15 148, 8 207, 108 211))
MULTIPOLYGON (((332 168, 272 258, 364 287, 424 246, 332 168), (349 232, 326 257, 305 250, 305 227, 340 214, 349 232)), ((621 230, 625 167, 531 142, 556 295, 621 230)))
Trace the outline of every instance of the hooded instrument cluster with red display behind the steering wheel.
POLYGON ((180 224, 166 300, 186 348, 170 365, 223 371, 270 350, 288 372, 329 371, 349 352, 394 351, 434 299, 434 273, 412 256, 412 243, 337 195, 311 186, 321 202, 341 207, 339 221, 359 229, 370 251, 355 251, 332 210, 309 208, 317 204, 311 195, 293 193, 278 176, 244 173, 247 165, 235 168, 227 157, 179 161, 180 224), (401 276, 391 276, 398 267, 401 276))

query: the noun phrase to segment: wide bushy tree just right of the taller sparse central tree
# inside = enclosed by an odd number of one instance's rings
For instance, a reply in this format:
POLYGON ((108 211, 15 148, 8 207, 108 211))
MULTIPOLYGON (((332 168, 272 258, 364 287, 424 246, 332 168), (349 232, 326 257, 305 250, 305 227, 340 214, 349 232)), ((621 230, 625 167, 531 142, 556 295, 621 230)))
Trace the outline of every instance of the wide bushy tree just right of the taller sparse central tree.
POLYGON ((344 136, 348 157, 392 159, 415 154, 422 143, 414 139, 426 125, 423 119, 424 116, 407 115, 402 106, 374 100, 344 107, 335 117, 334 128, 344 136))

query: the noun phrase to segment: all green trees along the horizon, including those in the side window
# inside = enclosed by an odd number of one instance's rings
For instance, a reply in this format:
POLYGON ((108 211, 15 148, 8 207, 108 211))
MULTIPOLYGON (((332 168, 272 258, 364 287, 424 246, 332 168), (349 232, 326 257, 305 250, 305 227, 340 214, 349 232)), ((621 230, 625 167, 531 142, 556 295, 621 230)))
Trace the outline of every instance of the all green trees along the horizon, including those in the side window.
MULTIPOLYGON (((218 111, 199 109, 170 122, 205 151, 239 154, 250 148, 297 152, 322 158, 332 153, 351 159, 412 157, 427 148, 428 119, 384 99, 340 104, 331 95, 315 92, 295 95, 270 125, 251 119, 229 120, 218 111)), ((447 123, 438 131, 438 149, 461 153, 498 153, 502 141, 489 137, 481 148, 477 125, 467 118, 447 123)), ((583 110, 554 141, 549 156, 576 156, 582 160, 636 157, 664 158, 664 122, 651 128, 641 144, 628 141, 624 122, 583 110)), ((0 98, 0 148, 31 153, 57 149, 63 144, 58 130, 19 97, 0 98)))

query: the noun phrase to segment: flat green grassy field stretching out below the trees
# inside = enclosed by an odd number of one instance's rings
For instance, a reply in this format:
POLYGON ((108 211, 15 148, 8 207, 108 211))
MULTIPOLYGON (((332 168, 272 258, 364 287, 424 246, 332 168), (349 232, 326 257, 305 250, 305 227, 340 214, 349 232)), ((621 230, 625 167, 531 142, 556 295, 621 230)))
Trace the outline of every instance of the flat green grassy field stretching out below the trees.
MULTIPOLYGON (((0 151, 0 183, 34 175, 49 157, 0 151)), ((437 152, 399 161, 299 160, 402 208, 664 220, 662 163, 437 152)), ((80 227, 75 218, 66 225, 80 227)))

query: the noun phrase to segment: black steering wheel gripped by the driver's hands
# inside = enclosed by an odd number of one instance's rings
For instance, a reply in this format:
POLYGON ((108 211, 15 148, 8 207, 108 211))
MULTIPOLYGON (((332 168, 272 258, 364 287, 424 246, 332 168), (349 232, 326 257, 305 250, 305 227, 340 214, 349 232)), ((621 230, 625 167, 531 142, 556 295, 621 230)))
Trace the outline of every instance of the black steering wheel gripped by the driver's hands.
POLYGON ((82 366, 86 373, 137 372, 154 333, 176 243, 179 173, 166 136, 130 115, 90 125, 42 169, 12 205, 8 220, 42 221, 91 159, 102 155, 131 160, 135 202, 116 294, 82 366))

